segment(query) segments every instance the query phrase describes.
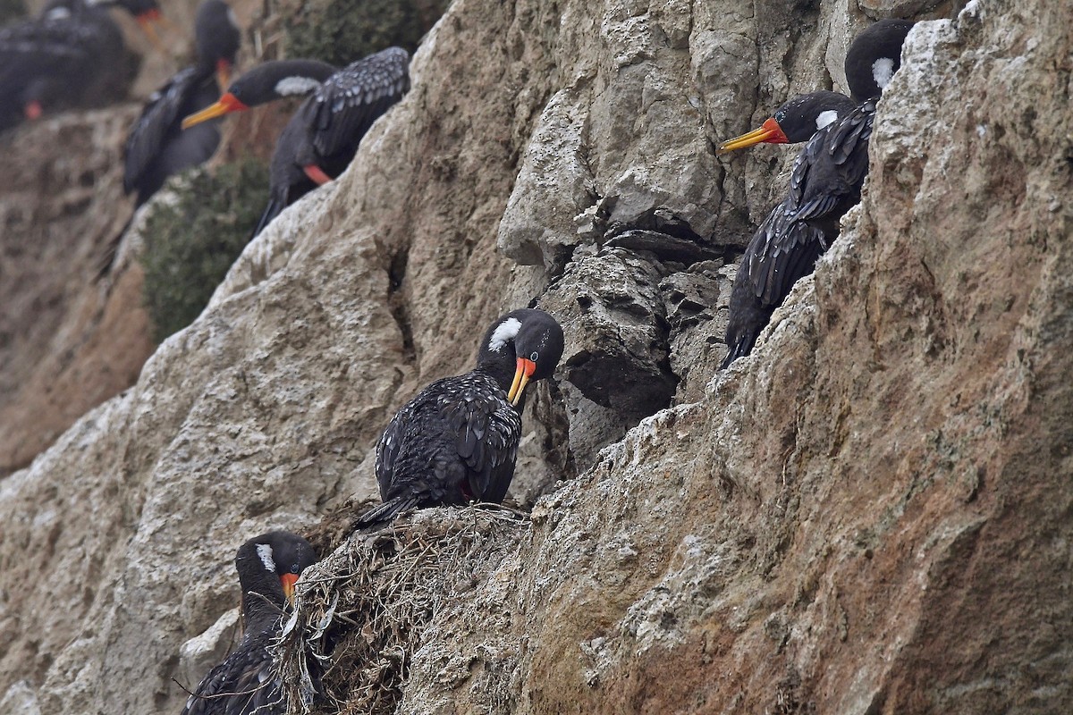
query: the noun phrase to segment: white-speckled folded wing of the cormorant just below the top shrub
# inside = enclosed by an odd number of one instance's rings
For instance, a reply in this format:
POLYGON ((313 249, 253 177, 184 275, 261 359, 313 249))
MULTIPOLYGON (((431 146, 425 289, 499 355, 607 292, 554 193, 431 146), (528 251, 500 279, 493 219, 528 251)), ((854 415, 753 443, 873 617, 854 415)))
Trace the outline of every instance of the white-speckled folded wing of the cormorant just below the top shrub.
POLYGON ((361 141, 382 114, 410 89, 406 50, 391 47, 335 73, 311 98, 313 147, 332 157, 361 141))

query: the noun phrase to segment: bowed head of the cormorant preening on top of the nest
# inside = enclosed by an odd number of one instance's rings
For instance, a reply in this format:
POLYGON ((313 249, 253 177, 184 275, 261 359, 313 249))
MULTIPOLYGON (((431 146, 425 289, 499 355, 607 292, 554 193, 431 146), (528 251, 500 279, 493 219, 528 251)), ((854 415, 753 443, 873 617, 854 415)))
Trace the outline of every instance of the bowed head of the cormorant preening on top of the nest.
POLYGON ((488 328, 477 364, 514 363, 514 379, 506 399, 516 406, 526 385, 555 372, 563 345, 562 328, 549 314, 535 309, 511 311, 488 328))

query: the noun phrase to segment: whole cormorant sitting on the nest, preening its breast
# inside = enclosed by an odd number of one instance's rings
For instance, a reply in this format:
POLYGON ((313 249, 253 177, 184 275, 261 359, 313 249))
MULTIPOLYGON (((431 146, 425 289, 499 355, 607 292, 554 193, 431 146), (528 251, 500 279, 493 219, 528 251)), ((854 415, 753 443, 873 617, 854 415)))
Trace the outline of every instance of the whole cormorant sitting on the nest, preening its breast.
POLYGON ((500 503, 514 477, 526 385, 555 372, 562 328, 541 310, 516 310, 488 328, 476 368, 438 379, 398 411, 377 445, 384 503, 358 526, 411 507, 500 503))

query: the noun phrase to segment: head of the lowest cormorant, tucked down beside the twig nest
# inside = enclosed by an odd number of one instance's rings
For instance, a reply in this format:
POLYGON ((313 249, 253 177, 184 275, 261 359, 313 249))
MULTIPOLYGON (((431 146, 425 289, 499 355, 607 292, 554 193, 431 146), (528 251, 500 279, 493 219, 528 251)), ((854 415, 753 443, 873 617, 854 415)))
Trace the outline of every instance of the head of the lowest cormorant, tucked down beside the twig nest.
POLYGON ((263 599, 278 608, 293 602, 298 576, 315 563, 313 547, 297 534, 269 532, 250 539, 235 556, 242 584, 242 609, 260 610, 258 604, 263 605, 263 599))

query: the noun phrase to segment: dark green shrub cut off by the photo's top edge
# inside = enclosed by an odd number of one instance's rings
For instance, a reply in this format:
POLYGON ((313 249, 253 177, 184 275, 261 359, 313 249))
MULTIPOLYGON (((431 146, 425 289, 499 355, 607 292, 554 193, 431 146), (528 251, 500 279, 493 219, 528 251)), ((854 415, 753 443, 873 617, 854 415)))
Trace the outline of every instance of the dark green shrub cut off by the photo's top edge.
POLYGON ((409 53, 449 0, 309 0, 284 23, 286 55, 344 66, 385 47, 409 53))

